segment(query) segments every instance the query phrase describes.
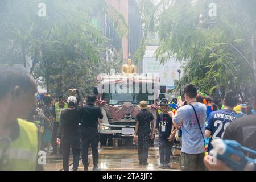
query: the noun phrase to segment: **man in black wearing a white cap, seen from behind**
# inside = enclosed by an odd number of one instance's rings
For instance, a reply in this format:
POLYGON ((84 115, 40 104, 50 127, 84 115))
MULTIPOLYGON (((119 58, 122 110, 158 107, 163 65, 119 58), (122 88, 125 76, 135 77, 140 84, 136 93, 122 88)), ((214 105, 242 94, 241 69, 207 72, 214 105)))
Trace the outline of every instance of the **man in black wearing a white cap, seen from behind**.
POLYGON ((76 92, 78 98, 68 97, 68 109, 61 111, 60 124, 57 132, 57 143, 61 144, 63 154, 63 170, 68 171, 70 147, 73 153, 73 171, 77 171, 81 152, 80 143, 80 115, 82 108, 81 95, 77 89, 70 89, 76 92), (79 103, 78 105, 77 102, 79 103), (61 139, 60 139, 61 138, 61 139))

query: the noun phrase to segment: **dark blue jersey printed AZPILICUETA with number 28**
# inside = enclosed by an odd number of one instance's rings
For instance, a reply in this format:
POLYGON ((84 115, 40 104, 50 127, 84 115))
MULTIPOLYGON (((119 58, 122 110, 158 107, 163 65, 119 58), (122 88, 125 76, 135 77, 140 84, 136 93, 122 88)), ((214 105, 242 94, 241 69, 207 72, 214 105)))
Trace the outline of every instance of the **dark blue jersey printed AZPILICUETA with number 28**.
POLYGON ((210 113, 208 121, 207 121, 207 126, 206 130, 209 130, 212 132, 212 136, 210 137, 207 152, 212 150, 212 139, 215 138, 223 138, 226 127, 234 121, 237 118, 237 114, 233 110, 228 110, 228 109, 222 109, 222 110, 217 110, 213 111, 210 113))

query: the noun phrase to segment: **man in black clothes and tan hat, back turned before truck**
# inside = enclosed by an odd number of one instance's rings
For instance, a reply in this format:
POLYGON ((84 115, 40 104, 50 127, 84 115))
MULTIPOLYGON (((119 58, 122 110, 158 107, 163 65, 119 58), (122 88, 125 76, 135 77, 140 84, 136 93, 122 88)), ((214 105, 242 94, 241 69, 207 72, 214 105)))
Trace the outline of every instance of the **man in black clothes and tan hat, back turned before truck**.
POLYGON ((146 101, 139 102, 138 108, 142 109, 142 111, 136 115, 137 122, 135 126, 134 140, 138 137, 139 164, 147 165, 150 138, 152 139, 154 137, 154 116, 147 110, 148 106, 146 101))

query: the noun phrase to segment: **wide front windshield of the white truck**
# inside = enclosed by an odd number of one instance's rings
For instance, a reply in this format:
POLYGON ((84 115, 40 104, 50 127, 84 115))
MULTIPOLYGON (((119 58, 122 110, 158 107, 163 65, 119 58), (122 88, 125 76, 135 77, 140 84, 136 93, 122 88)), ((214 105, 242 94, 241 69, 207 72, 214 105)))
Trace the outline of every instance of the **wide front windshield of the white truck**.
POLYGON ((138 105, 140 101, 146 101, 148 105, 154 104, 154 100, 148 100, 149 93, 103 93, 102 99, 108 104, 122 105, 124 102, 131 102, 133 105, 138 105))

